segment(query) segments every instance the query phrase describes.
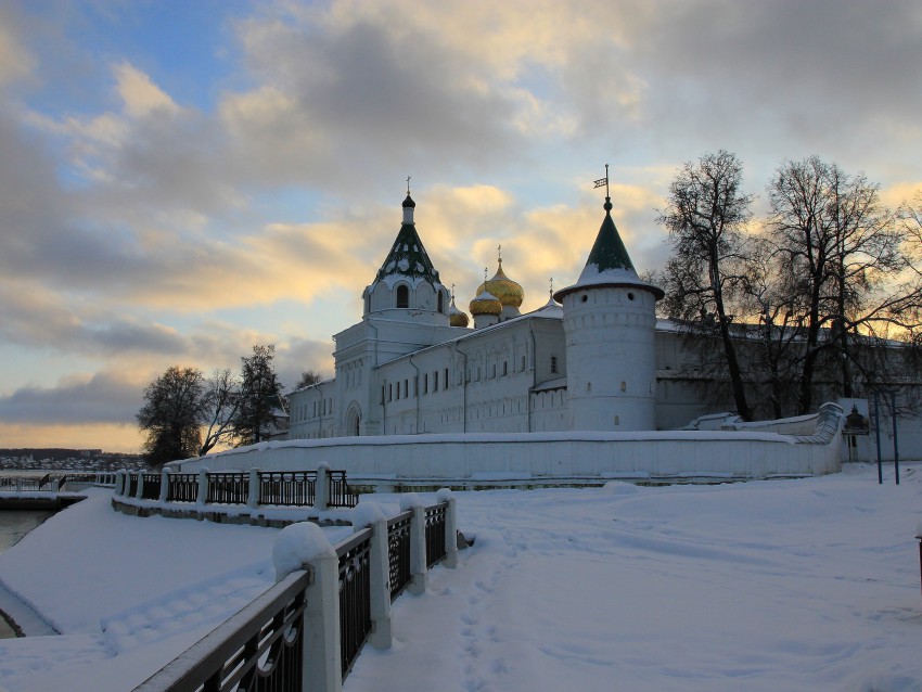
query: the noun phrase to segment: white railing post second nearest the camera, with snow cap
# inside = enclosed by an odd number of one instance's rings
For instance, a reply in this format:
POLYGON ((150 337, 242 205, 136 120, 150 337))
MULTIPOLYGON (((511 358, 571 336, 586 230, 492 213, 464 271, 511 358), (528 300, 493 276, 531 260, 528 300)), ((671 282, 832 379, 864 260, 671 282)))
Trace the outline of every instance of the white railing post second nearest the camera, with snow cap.
POLYGON ((371 581, 371 633, 368 641, 375 649, 390 649, 394 629, 390 619, 390 549, 387 517, 375 502, 361 502, 353 512, 356 531, 371 527, 369 580, 371 581))

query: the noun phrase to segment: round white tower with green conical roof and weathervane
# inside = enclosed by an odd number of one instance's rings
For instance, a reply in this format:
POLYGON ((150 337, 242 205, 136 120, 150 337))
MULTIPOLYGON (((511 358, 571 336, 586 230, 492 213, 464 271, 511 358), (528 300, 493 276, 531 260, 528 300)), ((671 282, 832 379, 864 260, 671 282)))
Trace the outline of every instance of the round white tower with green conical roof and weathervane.
MULTIPOLYGON (((606 181, 607 182, 607 181, 606 181)), ((664 293, 637 275, 612 219, 605 218, 579 280, 561 289, 571 430, 656 427, 656 300, 664 293)))

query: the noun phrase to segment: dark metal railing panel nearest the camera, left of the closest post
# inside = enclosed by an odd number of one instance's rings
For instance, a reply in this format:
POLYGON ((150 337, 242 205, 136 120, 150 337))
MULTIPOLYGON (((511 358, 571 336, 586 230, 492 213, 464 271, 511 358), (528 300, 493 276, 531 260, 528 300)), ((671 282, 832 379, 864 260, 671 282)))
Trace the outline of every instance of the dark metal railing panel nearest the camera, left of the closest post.
POLYGON ((135 692, 303 692, 307 586, 289 575, 135 692))

